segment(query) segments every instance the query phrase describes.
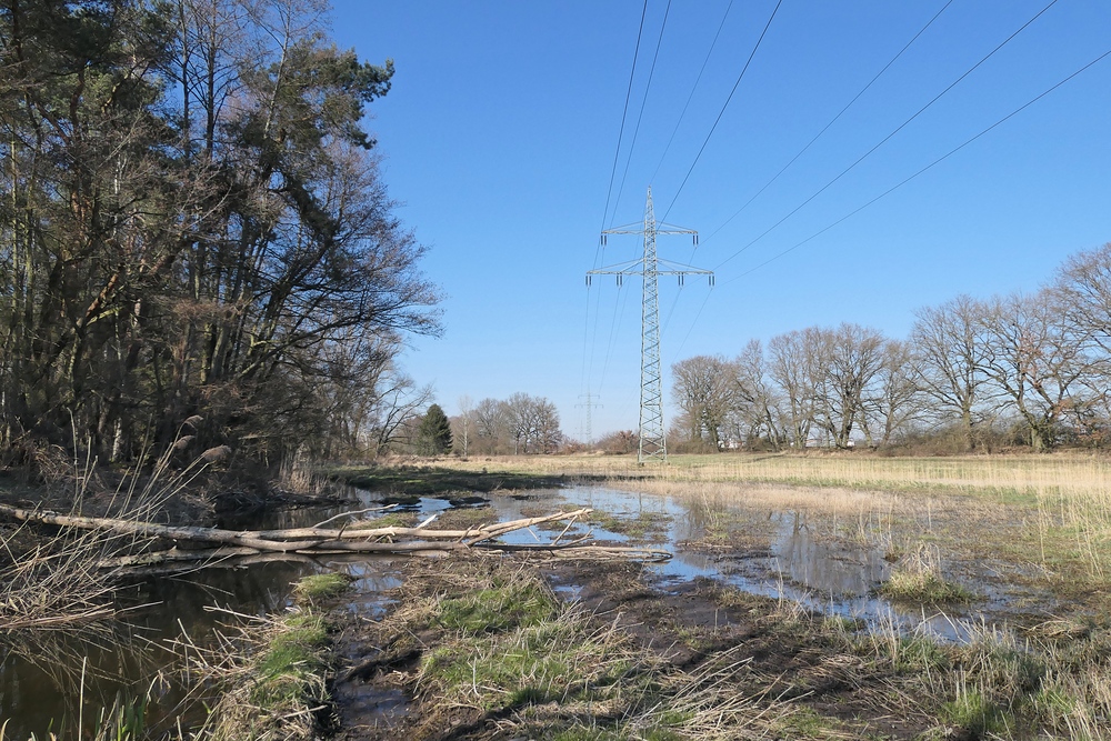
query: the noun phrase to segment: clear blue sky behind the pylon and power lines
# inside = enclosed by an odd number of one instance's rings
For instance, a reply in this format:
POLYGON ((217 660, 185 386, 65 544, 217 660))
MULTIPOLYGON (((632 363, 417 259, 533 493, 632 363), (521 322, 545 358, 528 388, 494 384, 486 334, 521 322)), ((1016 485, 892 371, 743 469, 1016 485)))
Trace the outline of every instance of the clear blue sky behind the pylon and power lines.
POLYGON ((634 429, 640 281, 584 273, 642 252, 598 234, 640 221, 649 186, 658 218, 700 232, 693 253, 661 237, 661 257, 717 271, 713 289, 661 279, 665 400, 675 360, 842 321, 902 338, 958 293, 1037 290, 1111 241, 1111 57, 763 263, 1111 51, 1111 3, 1058 0, 880 144, 1047 4, 782 0, 738 83, 777 0, 649 0, 611 189, 642 0, 336 2, 338 42, 397 66, 368 127, 446 297, 443 337, 406 369, 449 414, 523 391, 579 435, 589 391, 594 437, 634 429))

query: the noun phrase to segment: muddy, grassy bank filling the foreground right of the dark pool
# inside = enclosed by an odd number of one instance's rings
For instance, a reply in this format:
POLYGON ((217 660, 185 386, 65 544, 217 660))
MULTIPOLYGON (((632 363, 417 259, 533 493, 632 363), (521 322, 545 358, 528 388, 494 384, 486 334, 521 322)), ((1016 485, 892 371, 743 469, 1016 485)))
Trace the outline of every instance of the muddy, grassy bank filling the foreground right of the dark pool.
POLYGON ((1107 625, 945 643, 637 564, 401 571, 384 615, 332 613, 344 741, 1107 738, 1107 625))

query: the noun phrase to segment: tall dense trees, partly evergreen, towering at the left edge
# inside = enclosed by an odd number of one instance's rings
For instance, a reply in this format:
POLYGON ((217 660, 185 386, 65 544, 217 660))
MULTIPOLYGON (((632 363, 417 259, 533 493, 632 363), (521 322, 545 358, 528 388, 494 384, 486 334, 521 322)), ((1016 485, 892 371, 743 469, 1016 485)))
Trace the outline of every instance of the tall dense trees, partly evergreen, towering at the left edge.
POLYGON ((326 28, 323 0, 0 2, 0 449, 389 437, 438 291, 362 124, 393 63, 326 28))

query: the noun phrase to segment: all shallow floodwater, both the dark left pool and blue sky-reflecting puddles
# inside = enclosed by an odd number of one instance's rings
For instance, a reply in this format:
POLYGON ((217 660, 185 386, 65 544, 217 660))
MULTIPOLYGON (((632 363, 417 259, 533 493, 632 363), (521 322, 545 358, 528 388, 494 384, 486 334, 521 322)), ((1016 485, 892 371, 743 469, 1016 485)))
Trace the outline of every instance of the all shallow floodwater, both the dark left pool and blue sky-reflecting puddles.
MULTIPOLYGON (((962 640, 965 630, 957 620, 921 610, 903 610, 874 597, 887 578, 883 554, 867 545, 847 547, 818 538, 802 513, 769 512, 772 535, 768 547, 724 557, 683 550, 681 543, 705 533, 707 512, 668 497, 637 494, 600 487, 569 487, 506 494, 463 498, 393 499, 356 490, 359 510, 394 503, 398 509, 429 517, 453 507, 488 509, 490 521, 507 521, 534 514, 553 502, 567 509, 590 507, 619 520, 657 522, 647 538, 674 557, 651 564, 663 589, 707 577, 748 592, 799 603, 809 610, 860 619, 864 624, 894 625, 950 640, 962 640)), ((318 508, 268 514, 262 520, 227 521, 223 527, 292 528, 320 522, 339 509, 318 508)), ((373 517, 374 514, 368 514, 373 517)), ((509 543, 548 542, 562 530, 527 529, 503 537, 509 543)), ((590 532, 599 541, 621 543, 625 535, 578 522, 567 537, 590 532)), ((127 619, 111 632, 72 635, 37 634, 0 638, 0 723, 8 721, 7 739, 22 741, 31 733, 72 735, 79 715, 86 732, 96 724, 100 709, 117 698, 150 697, 147 722, 150 730, 169 730, 180 718, 188 727, 203 718, 196 699, 187 698, 178 671, 171 669, 169 643, 184 631, 198 644, 211 643, 220 623, 233 622, 226 611, 262 615, 284 610, 291 585, 301 577, 339 570, 354 578, 348 609, 369 619, 389 609, 386 592, 401 583, 402 557, 326 557, 316 560, 264 561, 236 568, 208 568, 189 574, 162 577, 124 589, 120 607, 127 619), (224 611, 224 612, 221 612, 224 611), (83 709, 80 698, 83 697, 83 709)), ((573 599, 575 588, 559 591, 573 599)), ((368 712, 396 715, 404 712, 397 697, 366 697, 368 712), (377 710, 376 710, 377 709, 377 710)))

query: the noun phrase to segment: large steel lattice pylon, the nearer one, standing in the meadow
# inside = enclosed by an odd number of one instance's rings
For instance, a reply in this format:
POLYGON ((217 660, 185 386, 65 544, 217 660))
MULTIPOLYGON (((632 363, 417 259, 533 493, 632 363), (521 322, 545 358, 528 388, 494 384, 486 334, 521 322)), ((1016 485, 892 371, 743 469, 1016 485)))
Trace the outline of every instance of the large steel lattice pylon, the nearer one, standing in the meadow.
POLYGON ((640 340, 640 448, 637 460, 668 460, 668 441, 663 427, 663 373, 660 369, 660 290, 659 276, 678 276, 679 284, 683 284, 685 276, 707 276, 713 286, 713 271, 660 260, 655 256, 657 234, 691 234, 698 244, 698 232, 655 222, 652 209, 652 187, 648 188, 648 202, 644 206, 644 224, 627 224, 602 231, 602 244, 609 234, 643 234, 644 257, 617 266, 609 266, 587 272, 587 286, 592 276, 617 276, 618 284, 624 276, 640 276, 644 281, 644 299, 641 307, 641 340, 640 340), (662 270, 660 269, 662 266, 662 270))

